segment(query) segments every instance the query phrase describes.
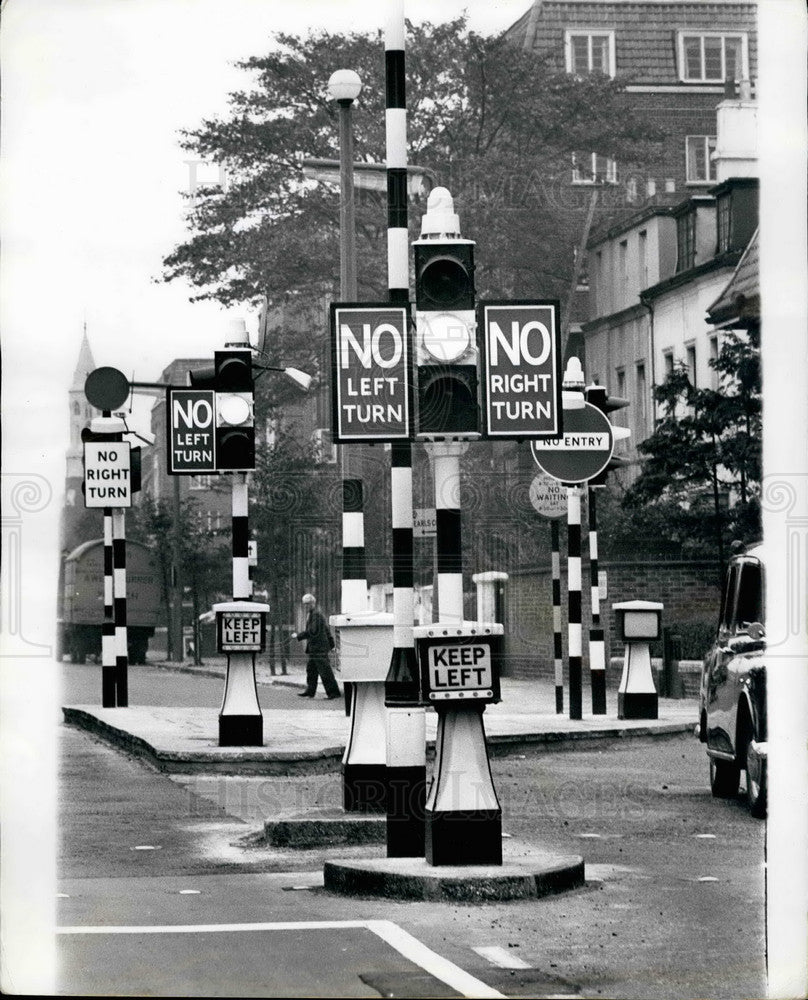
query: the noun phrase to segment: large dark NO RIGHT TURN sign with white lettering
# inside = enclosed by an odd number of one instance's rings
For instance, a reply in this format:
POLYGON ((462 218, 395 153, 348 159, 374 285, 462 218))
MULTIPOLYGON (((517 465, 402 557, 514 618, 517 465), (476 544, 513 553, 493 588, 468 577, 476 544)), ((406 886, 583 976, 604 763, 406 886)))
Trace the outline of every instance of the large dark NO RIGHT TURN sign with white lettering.
POLYGON ((481 302, 484 432, 494 438, 561 433, 558 303, 481 302))

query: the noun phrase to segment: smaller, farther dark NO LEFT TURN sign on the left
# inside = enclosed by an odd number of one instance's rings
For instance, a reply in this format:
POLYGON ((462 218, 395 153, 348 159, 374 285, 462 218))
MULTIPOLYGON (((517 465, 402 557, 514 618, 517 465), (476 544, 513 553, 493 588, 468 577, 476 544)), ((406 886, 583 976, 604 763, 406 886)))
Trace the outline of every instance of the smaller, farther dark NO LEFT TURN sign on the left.
POLYGON ((169 389, 166 410, 169 473, 215 472, 216 393, 213 389, 169 389))

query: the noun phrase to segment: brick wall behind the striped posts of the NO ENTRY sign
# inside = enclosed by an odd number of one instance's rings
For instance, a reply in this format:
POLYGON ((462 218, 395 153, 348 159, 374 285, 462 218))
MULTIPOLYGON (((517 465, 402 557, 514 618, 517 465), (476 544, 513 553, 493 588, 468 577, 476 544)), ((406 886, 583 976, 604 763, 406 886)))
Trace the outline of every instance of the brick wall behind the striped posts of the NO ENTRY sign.
MULTIPOLYGON (((586 546, 584 546, 586 548, 586 546)), ((588 669, 587 637, 590 624, 589 566, 583 560, 584 667, 588 669)), ((566 558, 561 557, 561 617, 566 660, 566 558)), ((601 623, 606 631, 606 657, 622 656, 623 645, 614 632, 612 604, 620 601, 661 601, 663 626, 717 619, 721 587, 715 562, 601 562, 608 593, 601 601, 601 623)), ((549 567, 512 573, 506 584, 506 662, 511 677, 553 676, 553 618, 549 567)), ((610 677, 610 681, 611 681, 610 677)))

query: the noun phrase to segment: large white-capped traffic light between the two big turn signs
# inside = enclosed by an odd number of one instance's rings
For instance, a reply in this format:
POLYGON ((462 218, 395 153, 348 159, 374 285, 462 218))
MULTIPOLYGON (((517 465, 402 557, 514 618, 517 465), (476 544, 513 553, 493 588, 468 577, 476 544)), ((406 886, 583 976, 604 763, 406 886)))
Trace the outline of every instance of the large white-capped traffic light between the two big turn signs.
POLYGON ((418 433, 476 435, 480 418, 474 242, 460 238, 446 188, 430 193, 421 238, 413 246, 418 433))

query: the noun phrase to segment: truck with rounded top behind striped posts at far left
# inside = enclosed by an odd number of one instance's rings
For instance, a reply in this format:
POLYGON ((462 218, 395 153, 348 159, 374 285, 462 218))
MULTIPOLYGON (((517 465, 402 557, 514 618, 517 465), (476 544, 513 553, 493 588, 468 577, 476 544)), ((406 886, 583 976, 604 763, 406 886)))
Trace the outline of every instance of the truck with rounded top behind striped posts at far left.
MULTIPOLYGON (((162 610, 160 576, 154 553, 141 542, 126 543, 126 624, 130 663, 145 663, 149 639, 162 610)), ((73 663, 100 658, 104 625, 104 539, 93 538, 65 557, 62 652, 73 663)))

